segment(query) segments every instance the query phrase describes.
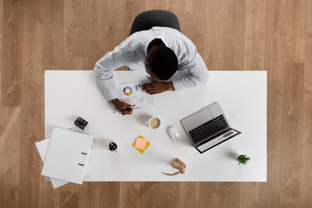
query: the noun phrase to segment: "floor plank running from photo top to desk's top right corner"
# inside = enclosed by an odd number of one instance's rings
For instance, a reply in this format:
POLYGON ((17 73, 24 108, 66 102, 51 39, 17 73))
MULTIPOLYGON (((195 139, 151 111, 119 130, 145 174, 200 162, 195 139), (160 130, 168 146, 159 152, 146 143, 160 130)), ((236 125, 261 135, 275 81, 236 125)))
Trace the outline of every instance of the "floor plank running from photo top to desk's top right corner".
POLYGON ((266 1, 246 1, 244 70, 263 70, 266 1))

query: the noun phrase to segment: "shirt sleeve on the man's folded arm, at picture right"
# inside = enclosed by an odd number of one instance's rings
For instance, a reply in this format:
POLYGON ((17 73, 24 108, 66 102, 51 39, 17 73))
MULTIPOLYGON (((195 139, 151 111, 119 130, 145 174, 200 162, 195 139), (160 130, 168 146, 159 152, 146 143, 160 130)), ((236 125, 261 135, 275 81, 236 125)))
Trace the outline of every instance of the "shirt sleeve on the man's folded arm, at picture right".
POLYGON ((181 91, 204 84, 209 79, 207 66, 196 51, 195 46, 190 51, 189 57, 191 57, 189 58, 190 61, 184 63, 185 67, 188 69, 188 73, 180 79, 172 81, 175 91, 181 91))

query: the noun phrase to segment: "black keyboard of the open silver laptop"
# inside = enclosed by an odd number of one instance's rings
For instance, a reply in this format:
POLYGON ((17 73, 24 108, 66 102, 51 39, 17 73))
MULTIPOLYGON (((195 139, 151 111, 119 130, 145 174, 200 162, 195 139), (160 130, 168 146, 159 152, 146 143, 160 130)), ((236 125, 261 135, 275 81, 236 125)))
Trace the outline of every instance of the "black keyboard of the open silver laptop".
POLYGON ((213 118, 212 120, 204 123, 203 125, 200 125, 190 130, 188 133, 190 134, 192 140, 196 144, 210 137, 211 135, 214 135, 215 133, 222 131, 227 127, 228 125, 223 115, 221 114, 220 116, 213 118))

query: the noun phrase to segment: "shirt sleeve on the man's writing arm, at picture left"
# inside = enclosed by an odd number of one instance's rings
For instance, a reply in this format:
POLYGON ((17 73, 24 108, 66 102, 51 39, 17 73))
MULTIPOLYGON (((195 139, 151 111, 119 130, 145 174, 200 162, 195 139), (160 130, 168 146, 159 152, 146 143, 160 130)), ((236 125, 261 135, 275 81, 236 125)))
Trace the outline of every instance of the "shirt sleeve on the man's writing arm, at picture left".
POLYGON ((108 52, 95 64, 94 72, 96 79, 98 80, 107 101, 117 98, 113 70, 121 66, 124 66, 124 63, 121 58, 120 46, 117 46, 113 51, 108 52))

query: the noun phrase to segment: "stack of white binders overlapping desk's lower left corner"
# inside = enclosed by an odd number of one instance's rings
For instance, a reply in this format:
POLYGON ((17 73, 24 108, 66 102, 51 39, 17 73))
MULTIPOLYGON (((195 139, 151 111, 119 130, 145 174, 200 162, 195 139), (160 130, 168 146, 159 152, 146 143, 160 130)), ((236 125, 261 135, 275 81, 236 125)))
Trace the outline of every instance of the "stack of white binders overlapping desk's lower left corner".
POLYGON ((50 138, 35 143, 44 163, 41 175, 54 189, 69 182, 82 184, 83 177, 92 173, 87 162, 93 139, 93 135, 54 127, 50 138))

